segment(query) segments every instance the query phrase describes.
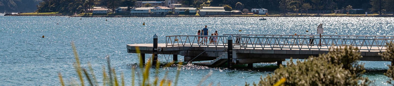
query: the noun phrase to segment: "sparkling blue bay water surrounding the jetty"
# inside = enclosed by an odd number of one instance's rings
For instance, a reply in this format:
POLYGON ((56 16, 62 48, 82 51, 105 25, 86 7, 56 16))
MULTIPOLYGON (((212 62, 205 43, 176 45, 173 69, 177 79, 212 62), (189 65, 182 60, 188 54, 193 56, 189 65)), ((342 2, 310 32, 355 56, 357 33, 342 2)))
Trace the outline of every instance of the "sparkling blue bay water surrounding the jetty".
MULTIPOLYGON (((291 35, 316 32, 318 24, 324 24, 325 34, 335 35, 394 35, 394 18, 374 17, 269 17, 259 21, 252 17, 204 17, 204 18, 82 18, 64 16, 0 16, 0 84, 59 85, 58 72, 66 83, 78 81, 72 66, 75 62, 71 42, 74 41, 80 55, 82 67, 91 62, 95 74, 101 81, 101 67, 105 57, 111 64, 125 73, 125 82, 130 84, 131 66, 138 65, 136 54, 127 53, 126 44, 152 43, 152 36, 159 36, 159 43, 166 35, 195 35, 205 25, 219 34, 279 34, 291 35), (108 21, 105 21, 108 19, 108 21), (142 26, 145 22, 146 26, 142 26), (242 32, 238 32, 242 30, 242 32), (41 36, 45 35, 45 38, 41 36)), ((147 55, 151 57, 151 55, 147 55)), ((159 60, 166 62, 159 55, 159 60)), ((170 58, 172 59, 172 58, 170 58)), ((179 59, 183 59, 179 57, 179 59)), ((362 61, 367 68, 366 77, 376 85, 386 85, 383 75, 390 62, 362 61)), ((275 63, 255 64, 257 68, 275 63)), ((284 62, 286 64, 286 62, 284 62)), ((139 69, 137 70, 139 71, 139 69)), ((174 80, 176 67, 161 68, 160 77, 169 71, 174 80)), ((179 84, 196 85, 209 72, 211 75, 203 85, 209 83, 222 86, 242 86, 245 82, 257 82, 273 70, 227 70, 202 66, 182 66, 179 84)), ((151 71, 151 75, 154 71, 151 71)), ((138 77, 137 77, 138 79, 138 77)), ((153 78, 151 78, 153 79, 153 78)), ((78 82, 77 82, 78 83, 78 82)))

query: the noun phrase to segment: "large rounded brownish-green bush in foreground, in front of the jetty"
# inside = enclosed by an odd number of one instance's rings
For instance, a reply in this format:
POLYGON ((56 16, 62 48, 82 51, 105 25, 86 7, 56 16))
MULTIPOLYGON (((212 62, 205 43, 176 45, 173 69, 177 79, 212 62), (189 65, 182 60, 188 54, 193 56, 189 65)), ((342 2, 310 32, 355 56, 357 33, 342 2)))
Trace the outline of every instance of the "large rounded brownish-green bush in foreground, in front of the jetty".
POLYGON ((286 86, 367 86, 368 78, 362 77, 364 64, 358 64, 361 55, 357 48, 344 47, 329 51, 305 61, 292 59, 286 67, 280 66, 272 75, 260 80, 255 86, 271 86, 286 79, 286 86))

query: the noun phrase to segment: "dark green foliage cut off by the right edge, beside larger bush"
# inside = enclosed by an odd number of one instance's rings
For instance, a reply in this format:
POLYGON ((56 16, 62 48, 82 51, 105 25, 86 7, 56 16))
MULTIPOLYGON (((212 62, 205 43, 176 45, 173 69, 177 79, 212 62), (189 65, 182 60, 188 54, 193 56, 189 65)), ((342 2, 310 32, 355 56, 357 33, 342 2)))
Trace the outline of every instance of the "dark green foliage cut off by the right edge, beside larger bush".
POLYGON ((386 71, 385 75, 390 78, 388 79, 387 83, 394 85, 391 81, 394 81, 394 43, 390 42, 386 44, 386 51, 383 53, 379 53, 382 56, 383 60, 387 60, 391 62, 391 65, 388 66, 388 70, 386 71))

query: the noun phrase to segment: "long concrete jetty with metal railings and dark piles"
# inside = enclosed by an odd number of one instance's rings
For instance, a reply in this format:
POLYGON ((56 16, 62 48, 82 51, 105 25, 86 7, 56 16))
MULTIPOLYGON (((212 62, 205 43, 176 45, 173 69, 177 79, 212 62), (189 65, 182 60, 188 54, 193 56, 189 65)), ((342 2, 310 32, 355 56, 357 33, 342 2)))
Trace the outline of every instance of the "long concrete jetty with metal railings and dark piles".
POLYGON ((128 53, 139 53, 145 63, 145 54, 153 54, 155 64, 158 54, 173 55, 178 61, 178 55, 184 56, 184 62, 196 62, 195 65, 217 67, 253 63, 277 62, 282 64, 285 59, 306 59, 328 53, 342 46, 353 46, 361 52, 361 60, 387 61, 381 59, 378 53, 385 52, 386 43, 392 42, 394 36, 383 35, 249 35, 224 34, 220 36, 173 35, 160 39, 153 36, 153 44, 127 44, 128 53), (208 38, 208 44, 201 44, 203 37, 208 38), (209 43, 209 38, 216 38, 209 43), (210 61, 210 62, 197 62, 210 61))

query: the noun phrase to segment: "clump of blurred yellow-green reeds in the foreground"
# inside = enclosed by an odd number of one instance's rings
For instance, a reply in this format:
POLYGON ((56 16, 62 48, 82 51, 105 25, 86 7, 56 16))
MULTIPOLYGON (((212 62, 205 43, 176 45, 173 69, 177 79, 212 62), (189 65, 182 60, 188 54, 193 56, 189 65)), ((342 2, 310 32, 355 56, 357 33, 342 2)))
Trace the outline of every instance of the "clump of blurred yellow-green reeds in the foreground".
MULTIPOLYGON (((74 63, 73 66, 75 68, 76 73, 78 74, 78 78, 80 80, 81 86, 85 86, 84 81, 89 82, 88 84, 90 86, 99 86, 99 82, 97 81, 97 78, 95 76, 95 73, 94 73, 94 70, 93 70, 93 67, 92 67, 91 63, 90 62, 87 63, 87 66, 88 66, 89 70, 86 70, 85 68, 82 68, 81 67, 81 63, 80 63, 80 59, 78 57, 78 53, 76 51, 76 47, 74 45, 74 42, 71 42, 71 46, 72 46, 72 51, 74 53, 74 57, 75 57, 75 60, 76 60, 76 62, 74 63), (84 73, 84 76, 82 75, 82 73, 84 73)), ((139 48, 136 47, 136 49, 137 49, 137 53, 140 53, 139 48)), ((173 82, 172 80, 167 78, 168 71, 165 72, 165 75, 164 75, 164 77, 162 79, 159 79, 158 74, 160 73, 159 72, 159 70, 160 70, 160 62, 157 61, 157 64, 154 67, 155 68, 155 75, 154 75, 155 78, 154 78, 154 81, 151 83, 149 81, 149 71, 152 68, 151 67, 152 66, 151 65, 152 64, 152 60, 148 59, 146 65, 144 66, 143 65, 144 63, 142 62, 143 59, 141 59, 141 55, 140 54, 138 54, 138 58, 139 58, 139 60, 141 60, 140 63, 139 63, 139 68, 141 69, 140 73, 142 74, 142 81, 139 82, 139 85, 137 85, 137 86, 171 86, 172 83, 174 83, 173 86, 177 86, 182 62, 178 62, 177 74, 175 76, 175 81, 173 82)), ((102 86, 119 86, 119 80, 118 80, 119 78, 117 78, 117 74, 116 74, 115 68, 113 68, 111 66, 110 57, 109 56, 106 57, 106 61, 107 61, 106 66, 102 66, 102 86)), ((173 65, 174 63, 175 62, 170 62, 170 63, 166 64, 163 67, 169 67, 169 66, 173 65)), ((136 79, 135 79, 136 75, 139 77, 139 73, 136 72, 136 66, 132 66, 132 68, 131 68, 131 76, 130 76, 131 77, 131 86, 136 86, 136 82, 135 82, 136 81, 136 79)), ((200 84, 202 82, 204 82, 205 79, 208 78, 210 75, 212 75, 212 73, 209 73, 206 77, 204 77, 201 80, 200 84)), ((59 80, 60 80, 61 86, 65 86, 65 83, 63 82, 63 78, 62 78, 60 72, 58 73, 58 76, 59 76, 59 80)), ((125 86, 125 76, 124 76, 123 72, 121 72, 121 83, 120 84, 121 84, 121 86, 125 86)))

